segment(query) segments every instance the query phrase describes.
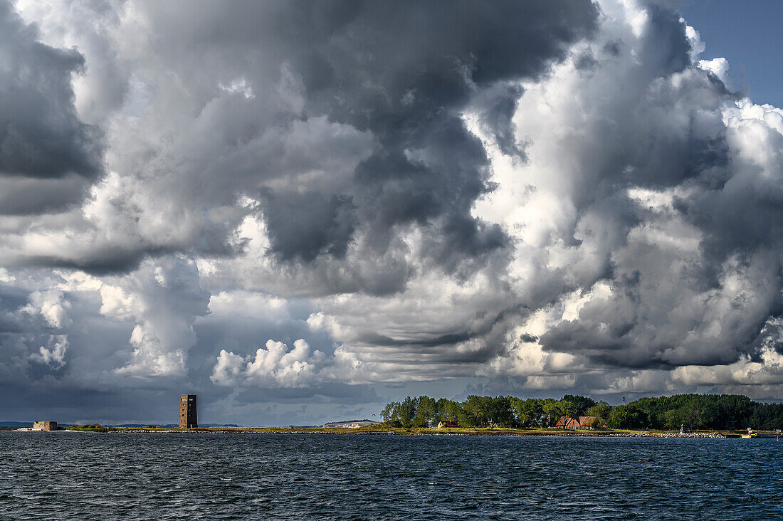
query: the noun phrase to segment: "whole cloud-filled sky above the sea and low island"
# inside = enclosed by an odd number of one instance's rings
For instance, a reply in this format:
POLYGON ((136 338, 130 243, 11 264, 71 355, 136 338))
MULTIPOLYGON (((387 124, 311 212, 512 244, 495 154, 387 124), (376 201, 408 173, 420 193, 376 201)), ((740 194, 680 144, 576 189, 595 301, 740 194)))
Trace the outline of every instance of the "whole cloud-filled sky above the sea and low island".
POLYGON ((0 421, 780 400, 758 14, 0 0, 0 421))

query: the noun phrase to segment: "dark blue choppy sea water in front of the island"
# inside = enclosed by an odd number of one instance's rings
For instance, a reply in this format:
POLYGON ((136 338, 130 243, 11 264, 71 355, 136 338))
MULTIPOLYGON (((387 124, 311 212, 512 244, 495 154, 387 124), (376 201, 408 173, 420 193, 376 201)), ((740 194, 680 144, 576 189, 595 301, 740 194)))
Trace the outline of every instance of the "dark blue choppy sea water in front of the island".
POLYGON ((781 519, 783 443, 0 432, 0 519, 781 519))

